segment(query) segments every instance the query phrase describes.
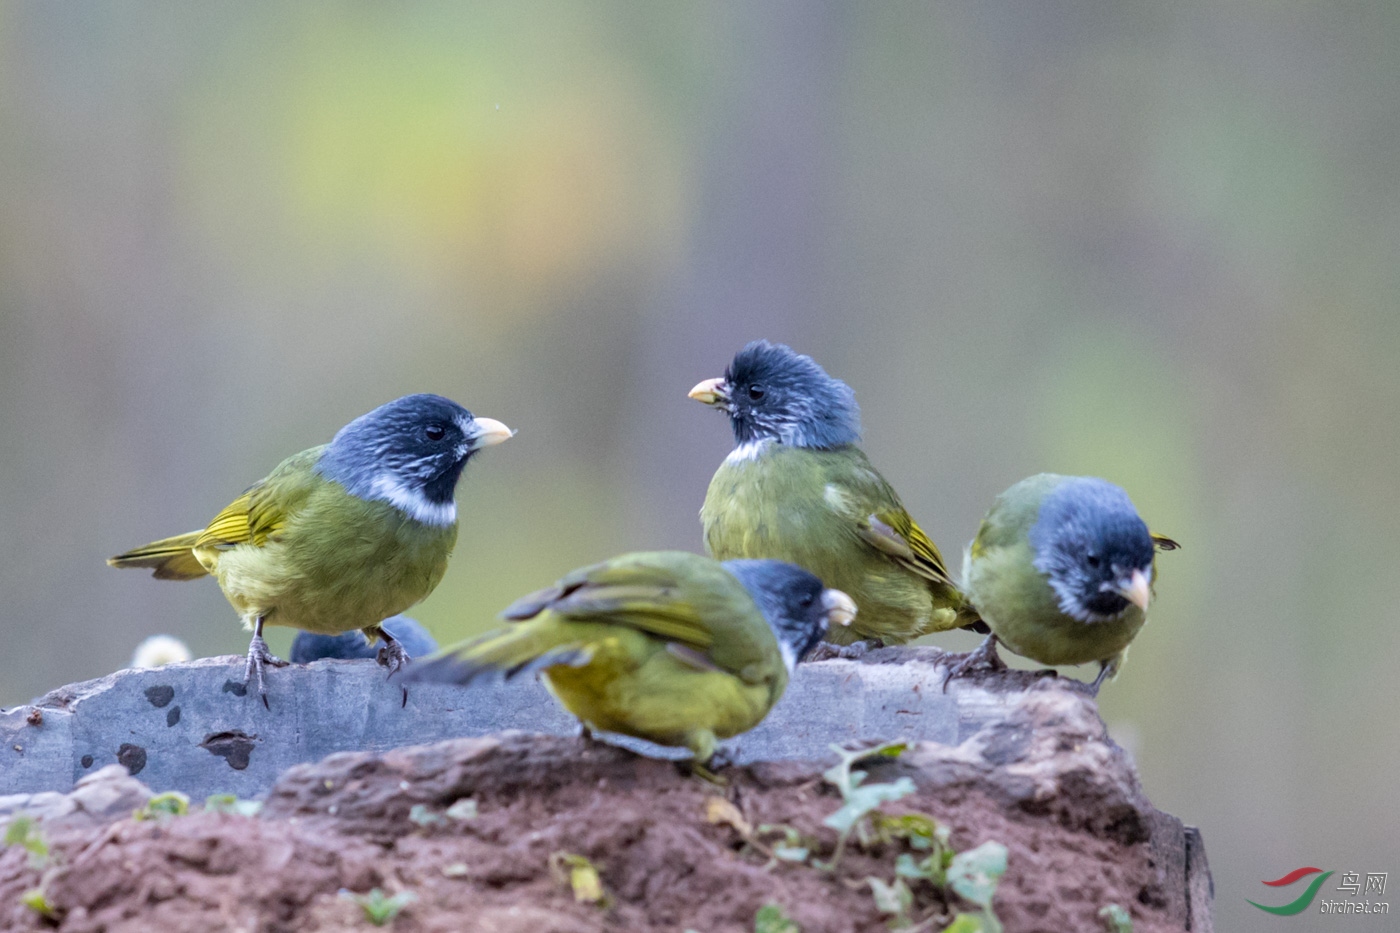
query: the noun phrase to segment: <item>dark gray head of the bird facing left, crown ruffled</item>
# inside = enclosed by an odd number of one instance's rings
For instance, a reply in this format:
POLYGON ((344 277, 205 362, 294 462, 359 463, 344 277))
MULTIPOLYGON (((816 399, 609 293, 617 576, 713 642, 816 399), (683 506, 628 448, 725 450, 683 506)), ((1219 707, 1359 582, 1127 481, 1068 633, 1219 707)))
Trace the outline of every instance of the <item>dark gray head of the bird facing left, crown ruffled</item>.
POLYGON ((749 343, 724 378, 700 382, 690 398, 725 412, 741 445, 776 440, 829 450, 861 437, 861 409, 851 387, 781 343, 749 343))

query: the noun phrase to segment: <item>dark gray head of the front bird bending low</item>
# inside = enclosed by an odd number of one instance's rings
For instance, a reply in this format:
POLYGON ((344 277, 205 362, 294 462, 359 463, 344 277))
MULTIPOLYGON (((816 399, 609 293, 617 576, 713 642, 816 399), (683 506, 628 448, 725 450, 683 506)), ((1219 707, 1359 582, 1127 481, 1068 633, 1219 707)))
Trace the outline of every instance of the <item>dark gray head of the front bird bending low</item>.
POLYGON ((788 671, 826 635, 832 625, 850 625, 855 602, 840 590, 827 590, 815 576, 783 560, 725 560, 778 640, 788 671))

